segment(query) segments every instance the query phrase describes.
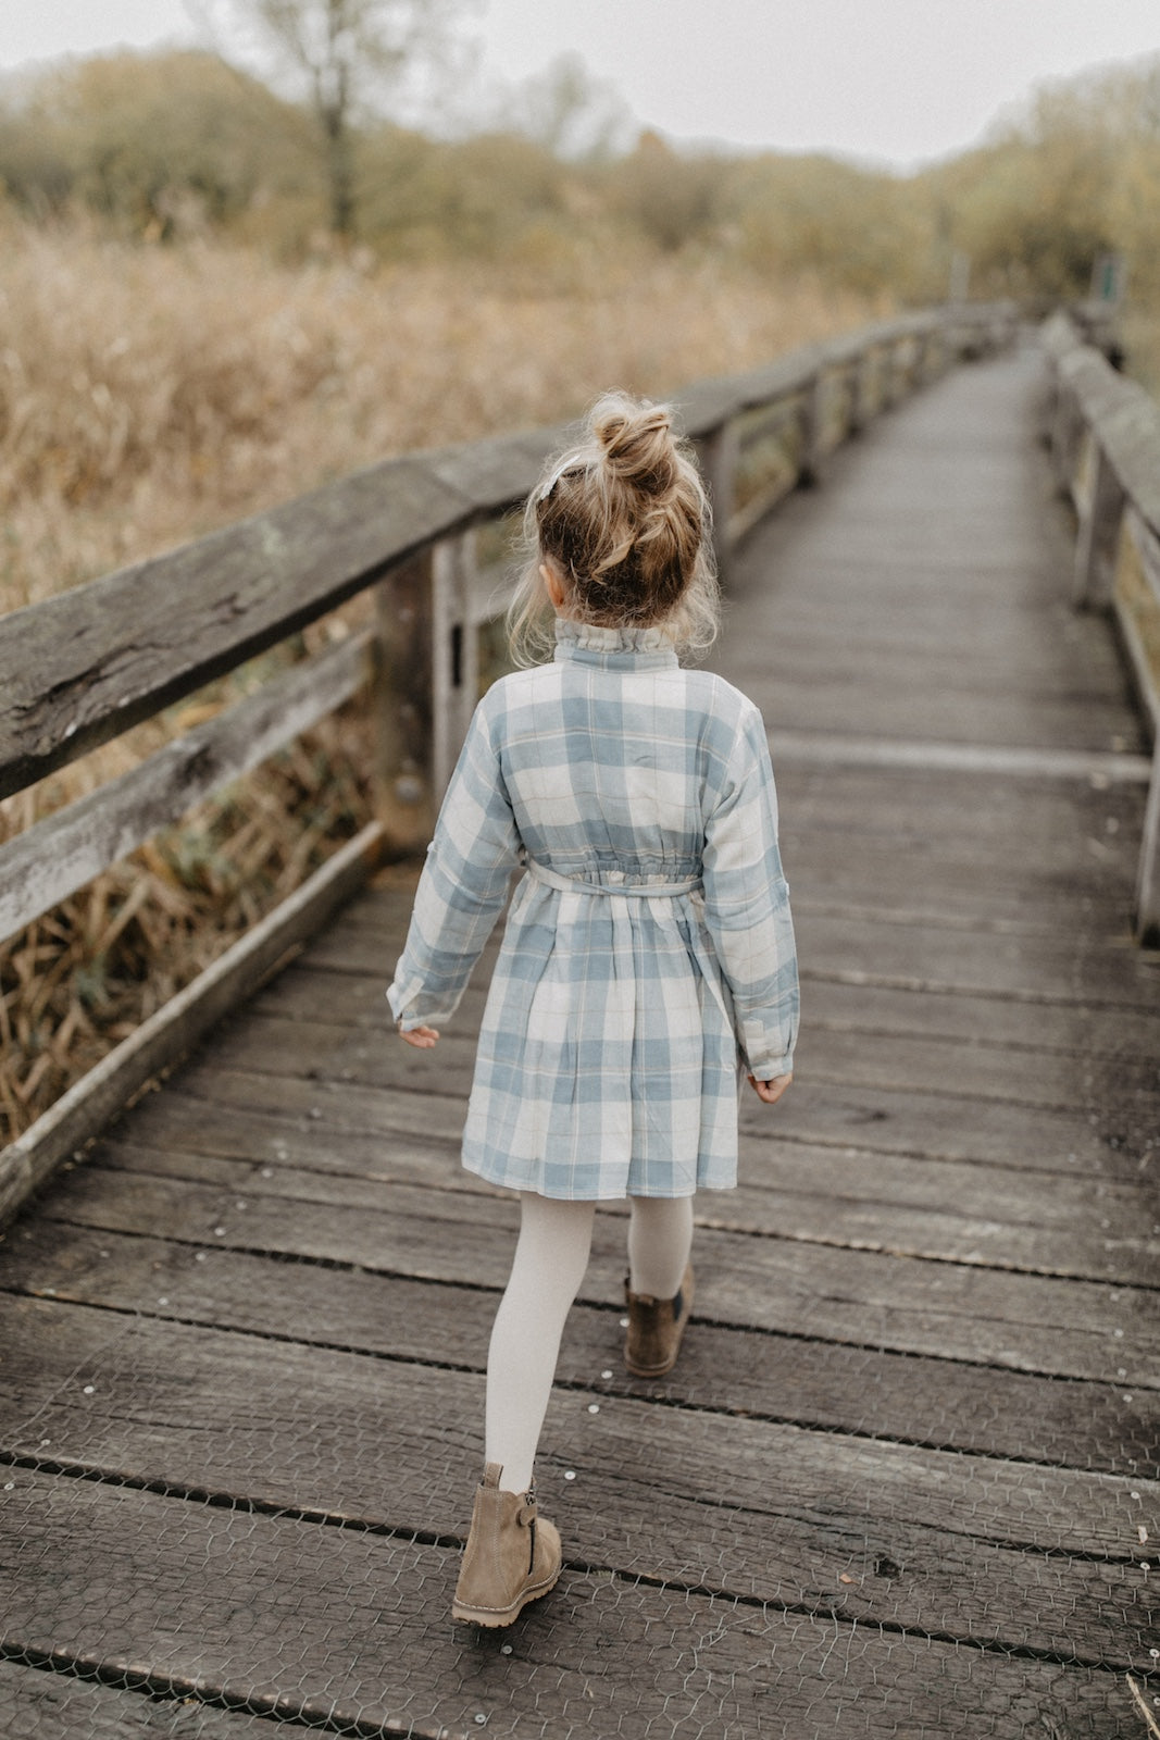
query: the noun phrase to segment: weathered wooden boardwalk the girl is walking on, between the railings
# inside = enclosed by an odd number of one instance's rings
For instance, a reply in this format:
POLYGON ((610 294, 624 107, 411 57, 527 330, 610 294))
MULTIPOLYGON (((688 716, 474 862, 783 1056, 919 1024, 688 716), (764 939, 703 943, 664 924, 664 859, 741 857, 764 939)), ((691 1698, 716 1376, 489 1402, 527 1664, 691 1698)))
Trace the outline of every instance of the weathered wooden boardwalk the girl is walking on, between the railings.
POLYGON ((1038 381, 948 376, 730 576, 800 1070, 699 1204, 664 1383, 623 1373, 597 1220, 558 1590, 449 1618, 515 1213, 457 1168, 483 974, 433 1056, 391 1035, 393 872, 0 1248, 3 1740, 1160 1733, 1141 740, 1038 381))

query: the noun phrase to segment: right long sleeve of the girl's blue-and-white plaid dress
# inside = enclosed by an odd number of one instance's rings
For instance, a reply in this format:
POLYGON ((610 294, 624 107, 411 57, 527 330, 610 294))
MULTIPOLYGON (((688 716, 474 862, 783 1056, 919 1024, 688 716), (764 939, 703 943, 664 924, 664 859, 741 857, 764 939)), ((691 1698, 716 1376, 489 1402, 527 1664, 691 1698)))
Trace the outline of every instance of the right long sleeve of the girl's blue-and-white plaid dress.
POLYGON ((732 992, 737 1039, 758 1081, 788 1075, 798 1027, 790 889, 762 715, 737 733, 704 833, 704 922, 732 992))

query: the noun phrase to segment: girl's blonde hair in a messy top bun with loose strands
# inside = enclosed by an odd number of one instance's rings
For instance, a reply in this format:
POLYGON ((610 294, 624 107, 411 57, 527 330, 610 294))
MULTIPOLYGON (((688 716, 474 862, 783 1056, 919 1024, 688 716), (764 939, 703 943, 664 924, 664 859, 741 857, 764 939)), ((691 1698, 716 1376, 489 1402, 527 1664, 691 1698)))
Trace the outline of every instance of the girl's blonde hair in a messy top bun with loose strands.
POLYGON ((553 459, 529 496, 523 541, 527 566, 508 609, 517 665, 541 663, 555 646, 544 562, 574 621, 664 628, 682 652, 717 639, 710 503, 668 405, 605 393, 586 438, 553 459))

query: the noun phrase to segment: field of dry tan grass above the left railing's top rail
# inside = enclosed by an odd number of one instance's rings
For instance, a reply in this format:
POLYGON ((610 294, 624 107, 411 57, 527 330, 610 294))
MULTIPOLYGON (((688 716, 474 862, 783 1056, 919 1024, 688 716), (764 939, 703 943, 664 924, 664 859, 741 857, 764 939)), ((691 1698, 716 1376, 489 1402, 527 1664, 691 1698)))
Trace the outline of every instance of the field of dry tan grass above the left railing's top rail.
POLYGON ((877 310, 647 256, 557 285, 466 263, 278 268, 0 235, 0 607, 414 447, 650 395, 877 310))

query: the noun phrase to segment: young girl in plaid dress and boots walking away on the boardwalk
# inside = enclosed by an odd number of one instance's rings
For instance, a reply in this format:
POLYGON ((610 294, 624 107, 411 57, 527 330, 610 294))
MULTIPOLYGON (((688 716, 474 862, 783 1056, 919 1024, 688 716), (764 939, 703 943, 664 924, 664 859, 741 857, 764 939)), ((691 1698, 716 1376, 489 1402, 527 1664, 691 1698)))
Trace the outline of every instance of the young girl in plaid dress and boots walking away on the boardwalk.
POLYGON ((517 658, 480 701, 388 992, 435 1046, 515 891, 464 1166, 520 1192, 487 1361, 485 1472, 452 1613, 510 1625, 560 1575, 532 1463, 597 1202, 628 1197, 628 1336, 668 1371, 692 1302, 692 1197, 737 1181, 737 1091, 791 1079, 797 960, 757 706, 678 651, 717 633, 708 505, 670 412, 610 395, 527 505, 517 658))

